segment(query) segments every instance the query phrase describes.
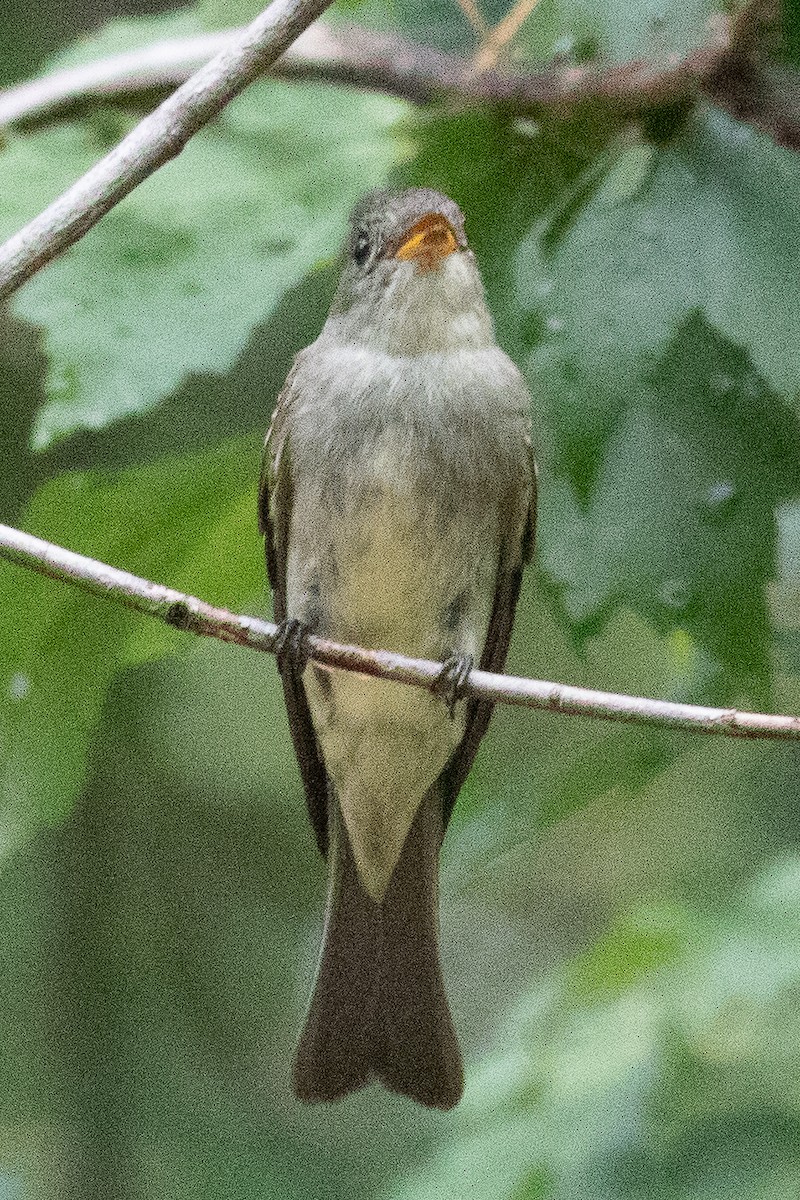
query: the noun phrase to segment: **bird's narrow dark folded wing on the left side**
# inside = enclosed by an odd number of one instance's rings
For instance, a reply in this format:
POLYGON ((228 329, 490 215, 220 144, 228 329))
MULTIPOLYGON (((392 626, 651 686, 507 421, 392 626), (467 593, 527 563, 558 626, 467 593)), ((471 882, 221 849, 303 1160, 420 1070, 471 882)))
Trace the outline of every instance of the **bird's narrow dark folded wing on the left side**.
MULTIPOLYGON (((294 400, 294 379, 289 377, 278 396, 264 443, 261 478, 258 493, 258 521, 264 534, 266 570, 272 589, 276 622, 287 617, 287 553, 291 524, 291 445, 289 415, 294 400)), ((306 790, 308 816, 323 856, 327 854, 327 773, 319 751, 300 672, 289 664, 281 672, 289 713, 289 730, 300 774, 306 790)))

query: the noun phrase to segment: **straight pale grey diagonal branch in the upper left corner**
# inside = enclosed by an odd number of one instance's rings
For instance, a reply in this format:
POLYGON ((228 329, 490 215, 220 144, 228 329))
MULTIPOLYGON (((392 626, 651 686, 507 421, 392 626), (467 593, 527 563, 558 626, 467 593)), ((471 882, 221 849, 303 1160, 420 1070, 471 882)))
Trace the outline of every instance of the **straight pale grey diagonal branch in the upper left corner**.
POLYGON ((273 0, 77 184, 0 246, 0 300, 91 229, 261 74, 331 0, 273 0))

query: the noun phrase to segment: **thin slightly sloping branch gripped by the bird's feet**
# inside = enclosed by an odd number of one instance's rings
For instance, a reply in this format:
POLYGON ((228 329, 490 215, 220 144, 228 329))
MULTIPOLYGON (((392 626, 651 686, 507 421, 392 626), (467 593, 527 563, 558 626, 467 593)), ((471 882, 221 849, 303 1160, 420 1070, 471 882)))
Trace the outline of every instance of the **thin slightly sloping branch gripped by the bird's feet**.
MULTIPOLYGON (((0 524, 0 558, 28 566, 41 575, 73 583, 96 596, 108 596, 128 608, 158 617, 178 629, 223 642, 235 642, 253 650, 275 653, 277 626, 258 617, 241 617, 225 608, 215 608, 197 596, 175 592, 161 583, 139 578, 94 558, 76 554, 49 541, 10 526, 0 524)), ((324 666, 396 683, 425 688, 435 686, 440 662, 410 659, 389 650, 365 650, 341 646, 324 637, 309 637, 311 658, 324 666)), ((567 684, 515 676, 471 671, 465 691, 470 696, 524 708, 545 709, 567 716, 596 716, 606 720, 650 725, 660 728, 720 733, 727 737, 780 738, 800 740, 800 716, 775 716, 742 713, 732 708, 702 708, 642 696, 620 696, 567 684)))

